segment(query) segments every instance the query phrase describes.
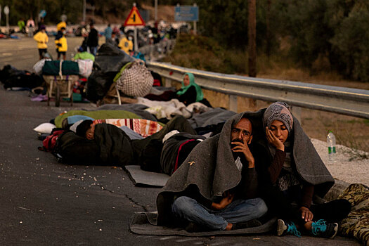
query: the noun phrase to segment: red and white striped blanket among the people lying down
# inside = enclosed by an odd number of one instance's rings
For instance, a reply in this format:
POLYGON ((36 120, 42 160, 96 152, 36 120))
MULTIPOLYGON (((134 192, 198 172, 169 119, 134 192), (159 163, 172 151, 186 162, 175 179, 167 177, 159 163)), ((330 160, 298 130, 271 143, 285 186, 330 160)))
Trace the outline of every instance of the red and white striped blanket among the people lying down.
POLYGON ((158 122, 148 119, 96 119, 93 124, 107 123, 117 127, 129 127, 129 129, 143 136, 143 138, 155 134, 162 129, 158 122))

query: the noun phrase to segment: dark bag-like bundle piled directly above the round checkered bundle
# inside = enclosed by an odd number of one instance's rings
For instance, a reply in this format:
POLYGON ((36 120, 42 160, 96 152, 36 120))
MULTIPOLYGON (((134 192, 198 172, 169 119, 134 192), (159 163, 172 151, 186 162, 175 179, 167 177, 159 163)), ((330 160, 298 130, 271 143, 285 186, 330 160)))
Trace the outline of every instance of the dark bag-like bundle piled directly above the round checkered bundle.
POLYGON ((103 44, 98 49, 95 63, 101 68, 103 72, 119 72, 119 70, 129 62, 133 62, 134 58, 127 55, 117 46, 112 44, 103 44))

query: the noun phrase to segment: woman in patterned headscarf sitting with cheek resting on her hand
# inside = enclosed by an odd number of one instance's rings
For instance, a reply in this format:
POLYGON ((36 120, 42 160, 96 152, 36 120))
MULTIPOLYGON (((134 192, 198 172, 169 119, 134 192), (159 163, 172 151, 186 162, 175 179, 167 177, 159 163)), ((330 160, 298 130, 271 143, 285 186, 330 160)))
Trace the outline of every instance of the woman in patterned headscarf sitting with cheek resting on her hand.
MULTIPOLYGON (((278 216, 278 235, 300 231, 323 238, 334 238, 340 220, 349 214, 347 200, 313 204, 313 195, 321 198, 334 179, 316 153, 310 139, 292 117, 287 103, 272 103, 264 112, 264 142, 255 153, 263 164, 262 198, 269 212, 278 216)), ((257 158, 256 158, 257 159, 257 158)))

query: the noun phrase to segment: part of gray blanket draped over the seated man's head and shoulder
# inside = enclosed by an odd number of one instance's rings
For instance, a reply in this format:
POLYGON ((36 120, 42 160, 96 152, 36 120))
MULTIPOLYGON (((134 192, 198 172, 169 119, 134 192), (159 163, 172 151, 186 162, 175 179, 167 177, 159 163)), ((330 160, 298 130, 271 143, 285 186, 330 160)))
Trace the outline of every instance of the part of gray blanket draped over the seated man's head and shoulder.
POLYGON ((235 165, 231 150, 231 129, 243 114, 234 115, 224 124, 220 134, 205 139, 193 149, 162 191, 157 195, 157 224, 170 225, 174 218, 171 204, 174 196, 192 189, 198 189, 207 200, 221 196, 226 190, 237 186, 241 172, 235 165))

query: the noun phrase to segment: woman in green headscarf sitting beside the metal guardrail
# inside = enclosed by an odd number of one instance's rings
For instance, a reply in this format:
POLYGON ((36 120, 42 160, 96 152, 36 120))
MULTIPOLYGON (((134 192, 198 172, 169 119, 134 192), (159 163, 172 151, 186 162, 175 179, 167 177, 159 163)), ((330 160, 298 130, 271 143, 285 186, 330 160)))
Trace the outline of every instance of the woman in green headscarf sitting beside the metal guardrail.
POLYGON ((176 92, 178 100, 186 106, 191 103, 200 102, 204 99, 204 94, 198 84, 195 84, 195 77, 190 72, 186 72, 183 76, 182 87, 176 92))

